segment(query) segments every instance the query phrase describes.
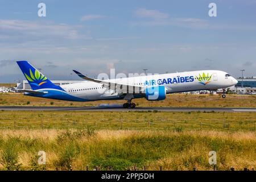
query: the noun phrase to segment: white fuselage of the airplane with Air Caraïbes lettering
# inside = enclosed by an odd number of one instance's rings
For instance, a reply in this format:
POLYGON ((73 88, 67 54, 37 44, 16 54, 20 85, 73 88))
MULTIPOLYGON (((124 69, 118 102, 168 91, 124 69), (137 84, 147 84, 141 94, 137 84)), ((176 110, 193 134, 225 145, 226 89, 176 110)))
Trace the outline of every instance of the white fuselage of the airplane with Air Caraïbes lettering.
MULTIPOLYGON (((135 86, 161 85, 166 88, 167 94, 194 90, 216 90, 237 84, 237 80, 234 77, 228 75, 226 72, 217 70, 167 73, 104 81, 135 86)), ((61 88, 71 96, 81 98, 85 101, 125 99, 124 94, 117 93, 114 90, 105 88, 102 84, 92 81, 61 85, 61 88)), ((136 94, 134 94, 134 98, 139 97, 143 97, 143 95, 137 94, 136 97, 136 94)))

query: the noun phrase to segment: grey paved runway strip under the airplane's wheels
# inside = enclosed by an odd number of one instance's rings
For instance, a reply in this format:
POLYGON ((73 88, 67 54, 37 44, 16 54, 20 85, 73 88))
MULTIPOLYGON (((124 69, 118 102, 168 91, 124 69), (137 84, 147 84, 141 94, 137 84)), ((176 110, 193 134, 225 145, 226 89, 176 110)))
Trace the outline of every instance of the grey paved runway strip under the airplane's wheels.
POLYGON ((121 106, 0 106, 0 110, 12 111, 215 111, 215 112, 256 112, 255 107, 135 107, 123 109, 121 106))

